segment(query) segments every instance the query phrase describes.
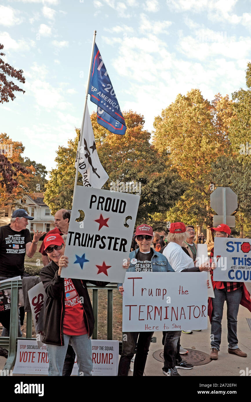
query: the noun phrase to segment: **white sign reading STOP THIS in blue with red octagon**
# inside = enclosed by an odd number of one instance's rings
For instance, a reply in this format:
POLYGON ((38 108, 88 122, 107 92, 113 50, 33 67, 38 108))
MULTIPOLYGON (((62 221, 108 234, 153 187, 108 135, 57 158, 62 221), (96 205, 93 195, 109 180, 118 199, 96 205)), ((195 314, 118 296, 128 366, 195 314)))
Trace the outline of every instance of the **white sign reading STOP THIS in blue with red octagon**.
POLYGON ((214 281, 251 282, 251 239, 214 239, 214 281))

